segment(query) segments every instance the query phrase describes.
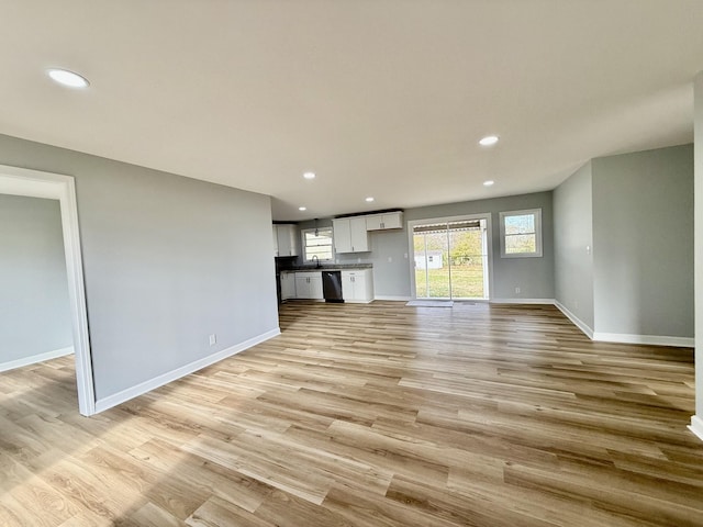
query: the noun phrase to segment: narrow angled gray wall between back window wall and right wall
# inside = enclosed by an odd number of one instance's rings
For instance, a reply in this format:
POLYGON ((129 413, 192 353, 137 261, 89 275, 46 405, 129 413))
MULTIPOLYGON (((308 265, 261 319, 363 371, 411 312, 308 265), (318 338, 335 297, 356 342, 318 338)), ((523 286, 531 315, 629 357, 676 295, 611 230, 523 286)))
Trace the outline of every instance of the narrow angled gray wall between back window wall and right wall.
POLYGON ((591 332, 593 316, 593 202, 591 162, 554 191, 556 300, 591 332))

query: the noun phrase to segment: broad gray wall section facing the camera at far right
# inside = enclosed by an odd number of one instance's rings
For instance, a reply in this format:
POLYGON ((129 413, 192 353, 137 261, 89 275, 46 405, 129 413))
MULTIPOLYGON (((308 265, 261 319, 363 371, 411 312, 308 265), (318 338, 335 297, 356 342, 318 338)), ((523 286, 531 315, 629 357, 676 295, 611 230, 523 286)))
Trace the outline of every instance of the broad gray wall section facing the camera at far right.
POLYGON ((593 159, 595 330, 693 336, 693 146, 593 159))

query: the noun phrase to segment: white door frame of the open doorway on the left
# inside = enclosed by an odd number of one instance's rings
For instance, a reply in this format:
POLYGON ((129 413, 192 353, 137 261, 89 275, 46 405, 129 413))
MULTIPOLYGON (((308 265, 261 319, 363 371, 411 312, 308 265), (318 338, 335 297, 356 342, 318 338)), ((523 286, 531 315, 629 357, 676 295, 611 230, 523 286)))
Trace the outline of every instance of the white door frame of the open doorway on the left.
POLYGON ((93 415, 96 413, 96 394, 75 180, 71 176, 0 165, 0 193, 53 199, 59 202, 76 358, 78 410, 82 415, 93 415))

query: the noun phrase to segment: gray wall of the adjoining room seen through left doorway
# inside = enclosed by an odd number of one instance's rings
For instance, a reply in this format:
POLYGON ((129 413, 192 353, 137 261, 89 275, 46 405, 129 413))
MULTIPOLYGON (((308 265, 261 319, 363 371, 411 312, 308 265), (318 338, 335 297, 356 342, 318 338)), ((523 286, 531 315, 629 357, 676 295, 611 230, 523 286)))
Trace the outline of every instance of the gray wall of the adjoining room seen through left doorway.
POLYGON ((58 200, 0 194, 0 365, 71 346, 58 200))

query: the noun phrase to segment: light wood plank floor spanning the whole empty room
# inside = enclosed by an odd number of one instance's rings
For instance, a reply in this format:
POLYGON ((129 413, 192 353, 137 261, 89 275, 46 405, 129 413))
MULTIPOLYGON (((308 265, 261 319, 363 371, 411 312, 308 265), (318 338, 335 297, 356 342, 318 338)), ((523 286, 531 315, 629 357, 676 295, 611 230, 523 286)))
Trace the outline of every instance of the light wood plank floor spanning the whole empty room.
POLYGON ((282 335, 92 418, 0 374, 0 525, 701 526, 692 350, 551 306, 289 303, 282 335))

